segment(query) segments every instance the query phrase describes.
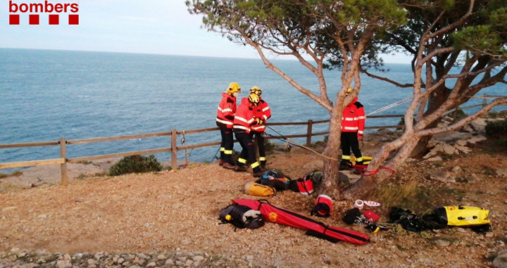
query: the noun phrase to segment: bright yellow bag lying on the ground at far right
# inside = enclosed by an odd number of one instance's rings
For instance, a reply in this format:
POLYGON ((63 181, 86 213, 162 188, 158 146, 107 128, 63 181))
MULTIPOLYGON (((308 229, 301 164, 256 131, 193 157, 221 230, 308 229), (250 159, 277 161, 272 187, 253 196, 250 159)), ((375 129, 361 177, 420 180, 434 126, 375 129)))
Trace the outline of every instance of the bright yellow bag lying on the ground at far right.
POLYGON ((439 207, 435 210, 439 222, 448 226, 477 226, 489 224, 489 210, 464 205, 439 207))

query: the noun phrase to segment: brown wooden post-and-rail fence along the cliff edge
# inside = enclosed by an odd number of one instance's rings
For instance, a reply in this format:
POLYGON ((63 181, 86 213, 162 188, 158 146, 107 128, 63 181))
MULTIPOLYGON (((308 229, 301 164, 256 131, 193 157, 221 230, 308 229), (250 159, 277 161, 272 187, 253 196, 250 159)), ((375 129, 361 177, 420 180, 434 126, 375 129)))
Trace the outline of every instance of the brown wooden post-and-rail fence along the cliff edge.
MULTIPOLYGON (((487 95, 486 95, 487 96, 487 95)), ((485 98, 484 98, 485 99, 485 98)), ((485 102, 475 106, 462 107, 461 110, 465 108, 472 108, 477 106, 484 106, 485 102)), ((453 110, 450 110, 448 113, 451 113, 453 110)), ((456 113, 455 113, 456 114, 456 113)), ((399 117, 403 118, 404 115, 369 115, 368 119, 375 118, 392 118, 399 117)), ((308 120, 307 122, 270 122, 269 126, 297 126, 297 125, 306 125, 306 133, 305 134, 291 134, 285 136, 274 136, 268 135, 265 139, 288 139, 288 138, 305 138, 306 137, 306 146, 311 146, 311 140, 313 136, 322 136, 329 134, 329 132, 313 132, 313 125, 318 124, 327 124, 330 120, 319 120, 313 121, 308 120)), ((399 129, 403 128, 404 125, 383 125, 383 126, 373 126, 373 127, 365 127, 365 129, 399 129)), ((25 147, 37 147, 37 146, 60 146, 60 158, 56 159, 43 159, 43 160, 30 160, 30 161, 20 161, 20 162, 0 162, 0 170, 10 169, 10 168, 18 168, 18 167, 33 167, 33 166, 41 166, 41 165, 60 165, 61 167, 61 184, 68 184, 67 177, 67 163, 79 163, 90 160, 100 160, 106 158, 118 158, 125 157, 130 155, 147 155, 147 154, 155 154, 155 153, 167 153, 171 152, 171 167, 173 169, 177 169, 177 151, 186 151, 194 148, 203 148, 208 146, 217 146, 220 145, 220 141, 212 141, 207 143, 198 143, 189 146, 177 146, 177 138, 178 135, 185 134, 196 134, 203 132, 218 132, 218 127, 211 127, 206 129, 190 129, 190 130, 182 130, 177 131, 176 129, 172 129, 170 132, 158 132, 158 133, 150 133, 150 134, 139 134, 139 135, 128 135, 128 136, 112 136, 112 137, 103 137, 103 138, 94 138, 94 139, 76 139, 76 140, 66 140, 65 138, 61 138, 59 141, 41 141, 41 142, 31 142, 31 143, 11 143, 11 144, 0 144, 0 149, 6 148, 25 148, 25 147), (155 137, 163 137, 170 136, 171 146, 165 148, 155 148, 150 150, 143 151, 130 151, 130 152, 120 152, 120 153, 110 153, 104 155, 89 155, 82 156, 77 158, 67 158, 67 146, 75 145, 75 144, 84 144, 84 143, 101 143, 101 142, 109 142, 109 141, 123 141, 129 139, 149 139, 155 137)), ((220 135, 218 135, 220 136, 220 135)), ((234 141, 237 142, 237 141, 234 141)))

